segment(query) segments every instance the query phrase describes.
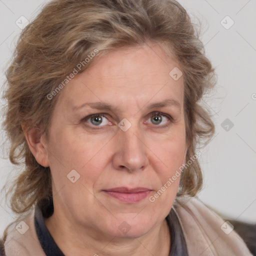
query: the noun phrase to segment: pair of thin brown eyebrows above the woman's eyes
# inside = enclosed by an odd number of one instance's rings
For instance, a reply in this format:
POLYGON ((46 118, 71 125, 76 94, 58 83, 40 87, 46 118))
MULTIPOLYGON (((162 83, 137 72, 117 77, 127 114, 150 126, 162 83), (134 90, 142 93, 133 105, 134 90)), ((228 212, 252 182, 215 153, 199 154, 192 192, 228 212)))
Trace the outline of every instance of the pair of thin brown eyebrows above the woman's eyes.
MULTIPOLYGON (((105 103, 103 101, 101 102, 87 102, 87 103, 83 103, 81 105, 76 105, 72 107, 72 110, 76 110, 76 109, 80 109, 82 107, 85 106, 89 106, 90 108, 94 108, 94 109, 99 109, 99 110, 119 110, 119 107, 117 106, 113 106, 111 104, 105 103)), ((156 107, 164 107, 164 106, 175 106, 177 107, 179 110, 181 108, 180 103, 178 101, 176 101, 175 99, 165 99, 163 101, 160 102, 155 102, 155 103, 151 103, 149 105, 144 105, 142 108, 147 108, 147 109, 152 109, 152 108, 156 108, 156 107)))

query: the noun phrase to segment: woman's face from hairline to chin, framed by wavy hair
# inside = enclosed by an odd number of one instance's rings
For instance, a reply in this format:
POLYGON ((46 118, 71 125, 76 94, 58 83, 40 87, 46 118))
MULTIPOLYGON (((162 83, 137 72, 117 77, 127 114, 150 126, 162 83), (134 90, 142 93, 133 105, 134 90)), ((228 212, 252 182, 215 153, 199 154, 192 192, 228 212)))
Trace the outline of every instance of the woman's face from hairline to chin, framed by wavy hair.
POLYGON ((178 64, 157 45, 96 57, 53 111, 45 158, 54 214, 95 237, 139 237, 176 196, 186 154, 183 78, 169 75, 178 64))

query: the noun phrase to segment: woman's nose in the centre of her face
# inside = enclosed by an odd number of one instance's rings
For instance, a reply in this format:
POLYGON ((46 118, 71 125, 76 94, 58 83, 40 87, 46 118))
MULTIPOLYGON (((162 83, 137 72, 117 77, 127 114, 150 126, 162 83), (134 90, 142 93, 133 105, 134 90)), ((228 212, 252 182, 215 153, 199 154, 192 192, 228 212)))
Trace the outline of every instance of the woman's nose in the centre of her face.
POLYGON ((143 170, 148 164, 146 145, 142 134, 134 129, 118 131, 115 136, 115 153, 113 155, 113 166, 115 169, 136 171, 143 170))

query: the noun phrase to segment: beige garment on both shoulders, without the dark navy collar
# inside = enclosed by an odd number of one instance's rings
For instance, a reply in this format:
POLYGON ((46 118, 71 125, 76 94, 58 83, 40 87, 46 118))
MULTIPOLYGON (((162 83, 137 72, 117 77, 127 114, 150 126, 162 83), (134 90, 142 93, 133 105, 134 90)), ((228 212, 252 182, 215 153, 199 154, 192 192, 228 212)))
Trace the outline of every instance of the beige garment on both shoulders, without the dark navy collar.
MULTIPOLYGON (((197 198, 178 198, 173 209, 179 218, 189 256, 252 255, 229 224, 197 198)), ((4 242, 6 256, 45 256, 34 227, 34 210, 23 217, 22 221, 29 227, 24 234, 16 229, 20 222, 15 222, 8 228, 4 242)))

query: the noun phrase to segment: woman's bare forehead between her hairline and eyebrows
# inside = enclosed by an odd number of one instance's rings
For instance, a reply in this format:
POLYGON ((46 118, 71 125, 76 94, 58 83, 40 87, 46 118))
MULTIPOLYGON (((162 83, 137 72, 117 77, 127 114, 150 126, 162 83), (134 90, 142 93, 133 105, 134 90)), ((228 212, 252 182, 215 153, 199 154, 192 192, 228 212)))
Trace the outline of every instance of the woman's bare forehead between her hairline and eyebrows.
POLYGON ((117 49, 95 57, 92 65, 77 74, 61 92, 68 106, 90 101, 141 104, 172 98, 182 105, 183 77, 169 72, 178 63, 158 45, 117 49))

